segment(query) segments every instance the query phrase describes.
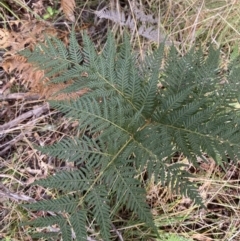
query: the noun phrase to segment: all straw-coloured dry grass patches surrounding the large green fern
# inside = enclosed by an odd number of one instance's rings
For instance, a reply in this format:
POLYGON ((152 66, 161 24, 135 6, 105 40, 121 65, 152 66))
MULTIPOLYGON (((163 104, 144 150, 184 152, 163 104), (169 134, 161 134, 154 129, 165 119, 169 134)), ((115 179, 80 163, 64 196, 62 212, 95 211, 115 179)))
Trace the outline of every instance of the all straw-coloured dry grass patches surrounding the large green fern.
MULTIPOLYGON (((0 4, 1 25, 7 26, 15 15, 20 19, 34 19, 36 17, 27 1, 11 1, 8 9, 0 4), (22 4, 19 6, 19 2, 22 4), (27 17, 26 17, 27 16, 27 17)), ((42 1, 43 2, 43 1, 42 1)), ((44 1, 42 14, 49 3, 44 1)), ((98 1, 76 1, 76 16, 78 24, 87 24, 88 32, 95 39, 96 44, 104 44, 105 34, 110 27, 116 38, 120 39, 123 28, 108 20, 99 20, 93 14, 98 1)), ((111 2, 111 7, 119 7, 111 2)), ((117 2, 117 1, 116 1, 117 2)), ((158 18, 157 27, 167 41, 178 46, 180 53, 186 53, 193 46, 204 49, 213 43, 221 47, 223 62, 239 52, 240 40, 240 2, 237 0, 142 0, 146 14, 158 18)), ((131 11, 132 1, 121 1, 122 8, 134 18, 131 11), (130 10, 130 11, 129 11, 130 10)), ((42 16, 39 12, 40 17, 42 16)), ((49 19, 55 26, 65 26, 63 16, 59 14, 49 19)), ((140 26, 137 25, 139 28, 140 26)), ((151 51, 157 45, 143 38, 135 30, 132 35, 134 48, 145 52, 151 51)), ((9 82, 9 76, 3 71, 0 74, 0 88, 9 82)), ((17 93, 17 85, 9 90, 17 93)), ((28 112, 36 106, 43 105, 40 101, 19 99, 1 100, 0 124, 6 124, 16 117, 28 112)), ((1 126, 0 126, 1 129, 1 126)), ((31 240, 28 227, 21 227, 21 221, 43 215, 33 213, 19 207, 23 200, 33 201, 55 196, 54 190, 32 187, 29 184, 60 169, 72 168, 65 162, 48 158, 34 149, 34 144, 46 145, 53 143, 63 136, 76 132, 75 123, 69 123, 54 111, 46 111, 40 116, 31 116, 19 125, 8 129, 0 136, 0 239, 1 240, 31 240)), ((152 207, 155 223, 160 232, 178 233, 187 238, 198 241, 210 240, 240 240, 240 166, 231 164, 223 170, 212 164, 202 164, 198 170, 191 170, 196 174, 194 180, 198 183, 200 192, 207 206, 206 210, 199 210, 187 198, 180 198, 161 185, 149 185, 148 202, 152 207)), ((127 223, 124 240, 156 240, 154 235, 142 224, 134 224, 133 218, 123 220, 127 223), (137 236, 138 235, 138 236, 137 236), (137 237, 137 238, 136 238, 137 237)), ((119 229, 120 231, 123 231, 119 229)))

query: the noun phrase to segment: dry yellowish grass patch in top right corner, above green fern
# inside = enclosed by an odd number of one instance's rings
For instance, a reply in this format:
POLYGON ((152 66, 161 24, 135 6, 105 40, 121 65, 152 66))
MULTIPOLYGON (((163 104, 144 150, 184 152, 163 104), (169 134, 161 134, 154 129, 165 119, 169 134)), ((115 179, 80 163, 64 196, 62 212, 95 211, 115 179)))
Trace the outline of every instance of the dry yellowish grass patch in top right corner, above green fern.
POLYGON ((165 1, 162 24, 183 50, 214 43, 230 52, 240 37, 239 6, 235 0, 165 1))

